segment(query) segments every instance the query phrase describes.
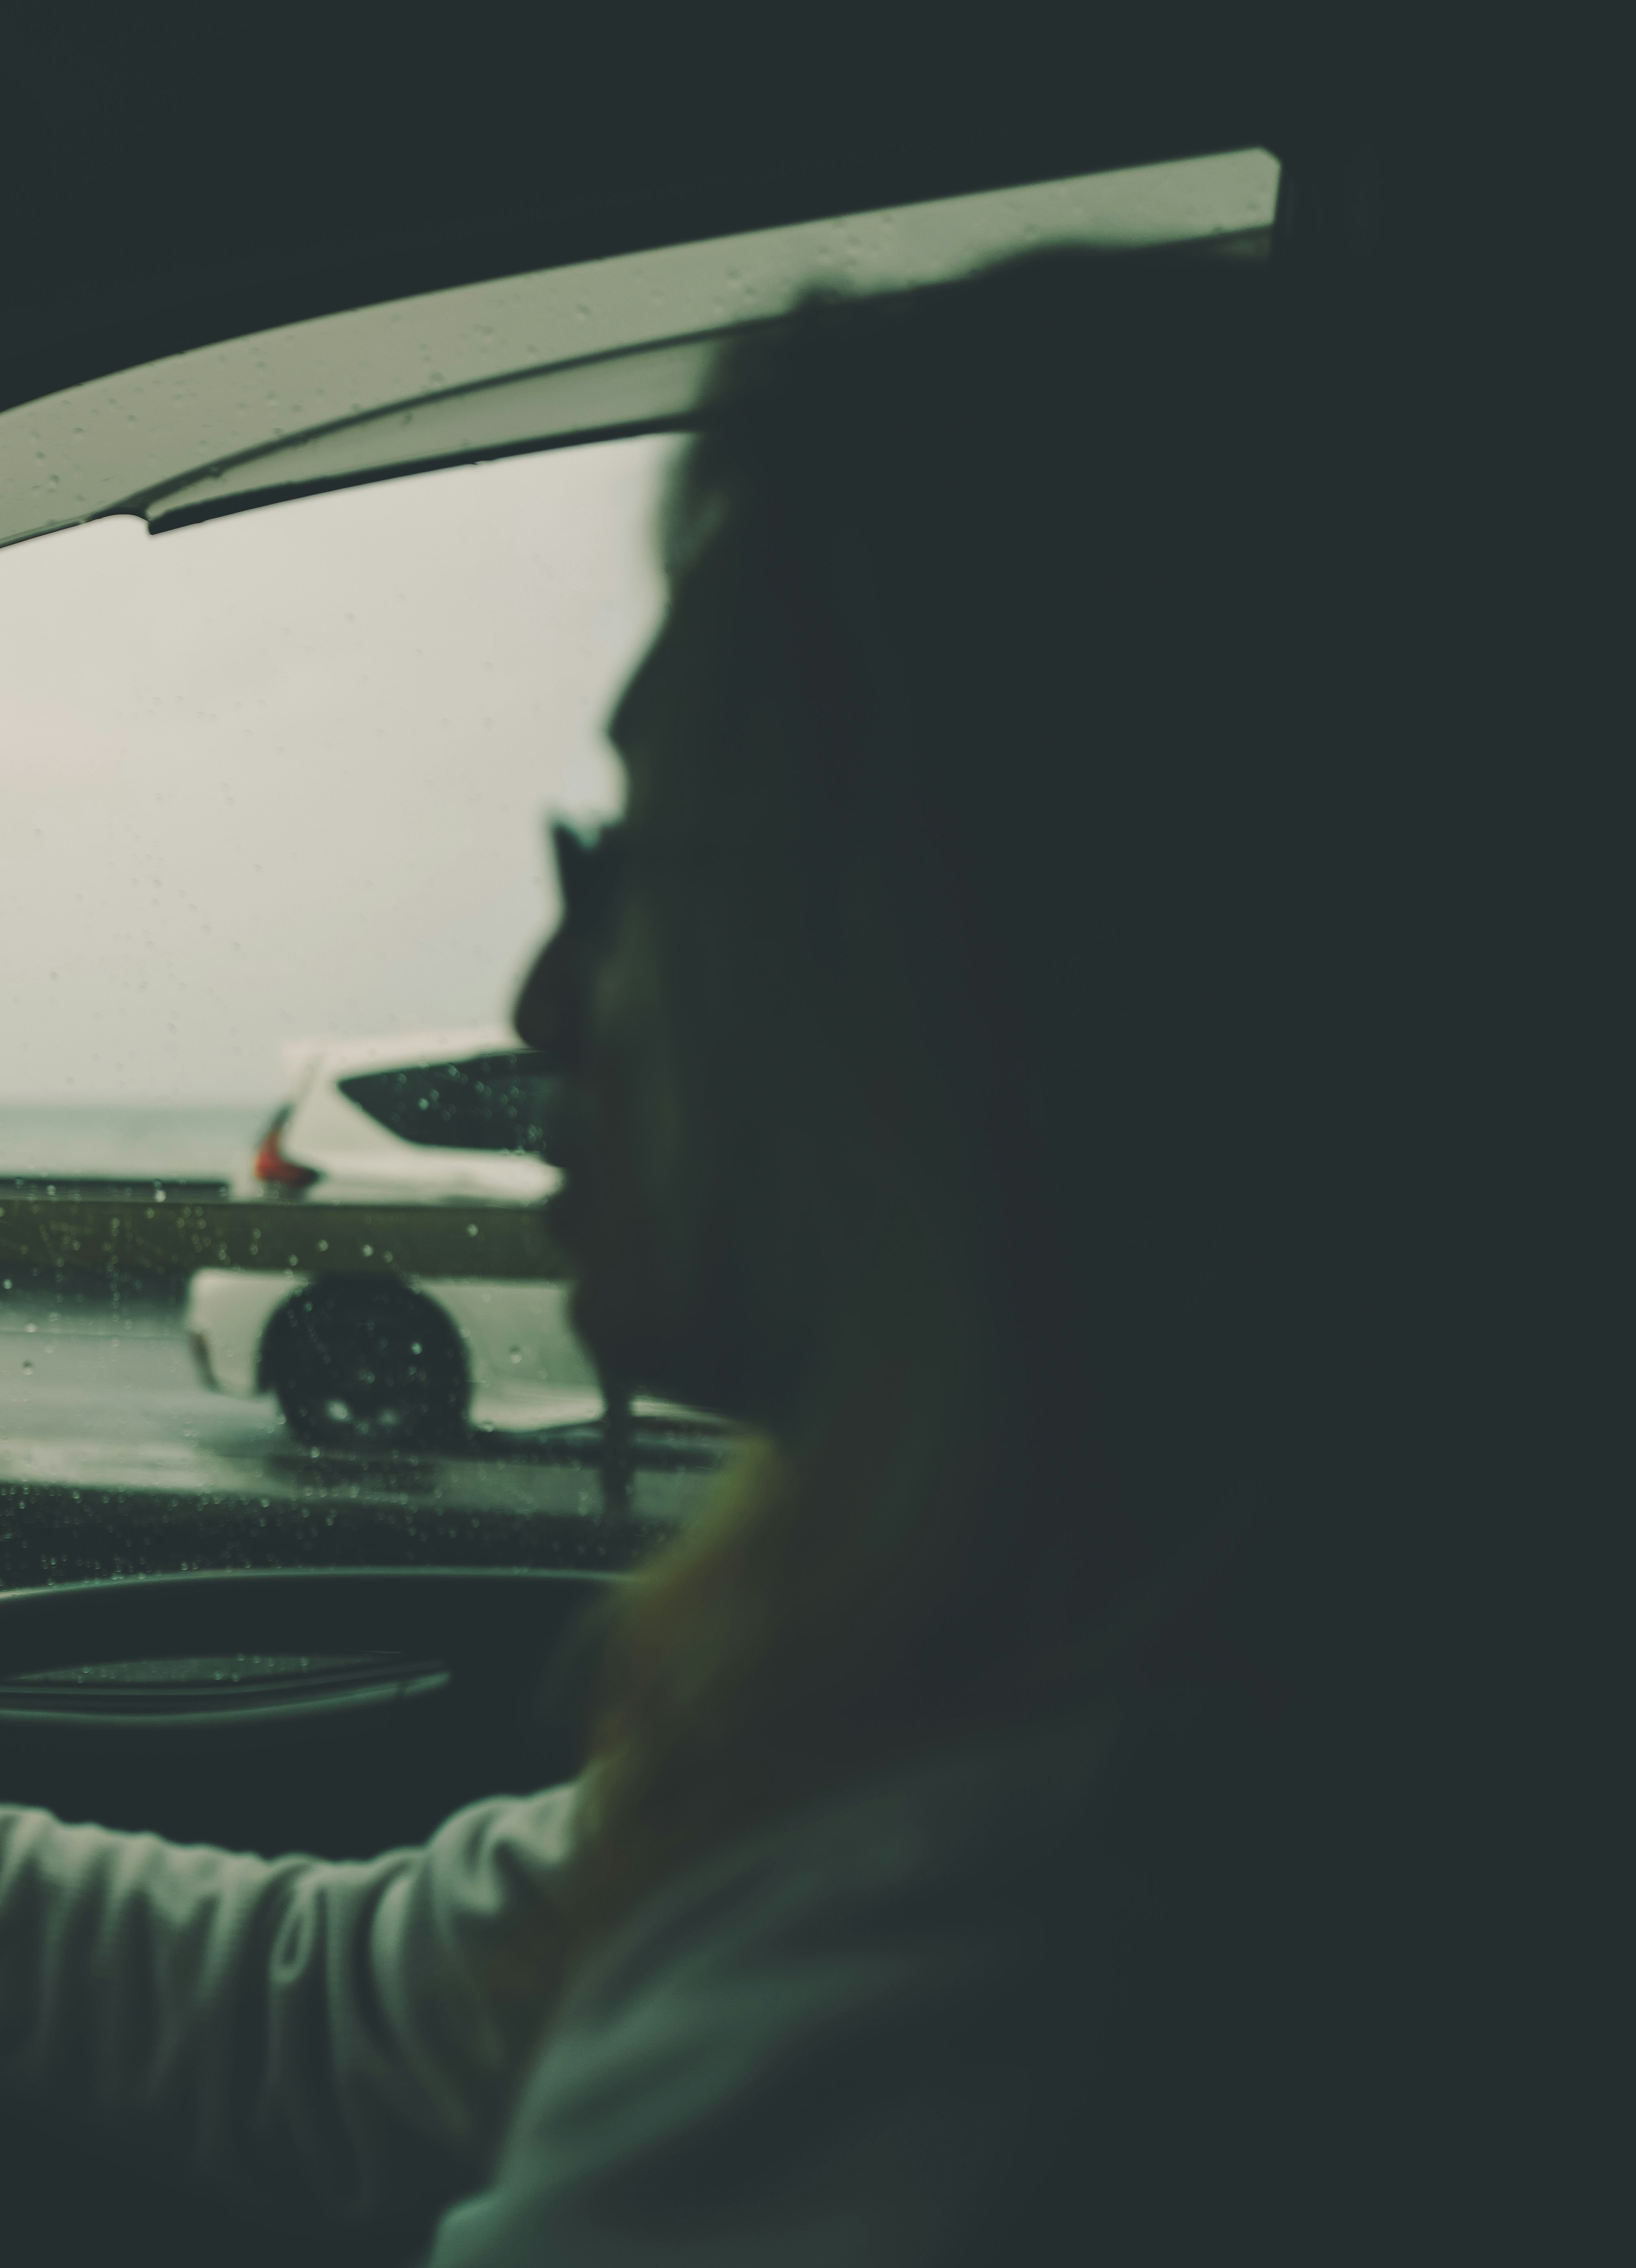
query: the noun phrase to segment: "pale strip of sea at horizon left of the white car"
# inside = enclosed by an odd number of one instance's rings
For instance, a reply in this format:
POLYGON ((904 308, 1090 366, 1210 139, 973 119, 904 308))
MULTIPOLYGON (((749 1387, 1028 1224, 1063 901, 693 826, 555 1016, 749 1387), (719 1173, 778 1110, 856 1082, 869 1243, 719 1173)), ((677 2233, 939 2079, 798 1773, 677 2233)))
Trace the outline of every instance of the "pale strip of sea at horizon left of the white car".
POLYGON ((0 1177, 227 1179, 270 1116, 270 1102, 0 1102, 0 1177))

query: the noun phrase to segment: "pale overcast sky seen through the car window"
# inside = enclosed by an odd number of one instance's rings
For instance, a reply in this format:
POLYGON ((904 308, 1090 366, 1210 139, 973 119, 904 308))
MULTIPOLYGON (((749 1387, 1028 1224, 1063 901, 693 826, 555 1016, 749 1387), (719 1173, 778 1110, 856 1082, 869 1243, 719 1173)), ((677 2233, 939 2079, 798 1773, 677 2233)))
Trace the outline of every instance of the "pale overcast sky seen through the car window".
POLYGON ((547 810, 617 801, 672 449, 0 551, 0 1102, 277 1102, 290 1039, 504 1018, 547 810))

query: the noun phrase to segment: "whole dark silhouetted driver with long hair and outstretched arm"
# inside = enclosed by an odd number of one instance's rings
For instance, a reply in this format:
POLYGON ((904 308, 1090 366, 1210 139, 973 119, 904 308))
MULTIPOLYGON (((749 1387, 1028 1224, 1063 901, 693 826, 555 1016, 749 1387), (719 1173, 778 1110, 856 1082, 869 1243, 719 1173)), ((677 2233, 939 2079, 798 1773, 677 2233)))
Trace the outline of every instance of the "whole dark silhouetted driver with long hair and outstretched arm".
POLYGON ((431 2268, 1464 2257, 1563 900, 1355 345, 1051 252, 724 356, 517 1030, 579 1331, 744 1454, 570 1787, 0 1812, 0 2080, 431 2268))

